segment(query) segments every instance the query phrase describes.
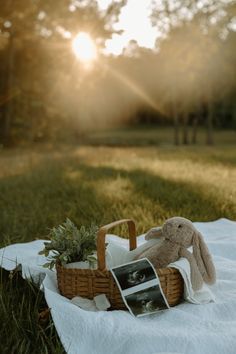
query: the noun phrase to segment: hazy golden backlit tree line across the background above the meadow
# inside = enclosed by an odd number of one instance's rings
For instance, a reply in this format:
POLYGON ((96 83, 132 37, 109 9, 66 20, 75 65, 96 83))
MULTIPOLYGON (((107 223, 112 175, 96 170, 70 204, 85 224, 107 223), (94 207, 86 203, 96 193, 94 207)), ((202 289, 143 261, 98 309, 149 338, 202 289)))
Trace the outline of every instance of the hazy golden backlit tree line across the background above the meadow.
POLYGON ((176 144, 196 142, 199 125, 207 128, 208 144, 214 124, 235 129, 235 32, 229 25, 235 7, 229 2, 227 16, 214 24, 219 2, 196 12, 197 2, 171 8, 163 1, 162 10, 153 8, 153 25, 173 16, 178 21, 163 30, 155 50, 131 41, 119 57, 105 56, 125 3, 113 1, 103 12, 93 0, 1 4, 0 144, 78 137, 130 120, 173 124, 176 144), (181 18, 183 6, 194 13, 191 20, 181 18), (71 50, 81 30, 101 50, 91 71, 71 50))

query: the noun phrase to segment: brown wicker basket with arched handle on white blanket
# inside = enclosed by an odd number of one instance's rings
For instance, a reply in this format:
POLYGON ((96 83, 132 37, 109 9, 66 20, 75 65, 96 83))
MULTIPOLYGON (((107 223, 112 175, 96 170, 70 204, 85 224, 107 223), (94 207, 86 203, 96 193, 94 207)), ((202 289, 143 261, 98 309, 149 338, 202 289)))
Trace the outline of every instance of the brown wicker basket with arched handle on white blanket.
MULTIPOLYGON (((57 280, 60 293, 71 299, 74 296, 82 296, 93 299, 98 294, 106 294, 111 309, 125 309, 120 291, 105 263, 105 236, 111 228, 127 223, 129 227, 130 250, 136 248, 135 224, 130 219, 115 221, 103 226, 97 236, 97 258, 98 269, 71 269, 56 265, 57 280)), ((177 269, 159 268, 156 269, 159 276, 162 290, 170 306, 181 302, 183 297, 183 279, 177 269)))

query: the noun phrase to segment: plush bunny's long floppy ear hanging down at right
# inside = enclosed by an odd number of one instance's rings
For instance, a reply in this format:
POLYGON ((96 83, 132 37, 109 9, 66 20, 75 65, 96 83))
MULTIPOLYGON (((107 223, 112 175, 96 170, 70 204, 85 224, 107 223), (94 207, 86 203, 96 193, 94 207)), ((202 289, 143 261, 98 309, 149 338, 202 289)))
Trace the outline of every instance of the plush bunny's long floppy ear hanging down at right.
POLYGON ((203 236, 198 231, 193 235, 193 255, 203 280, 208 284, 214 284, 216 281, 215 266, 203 236))

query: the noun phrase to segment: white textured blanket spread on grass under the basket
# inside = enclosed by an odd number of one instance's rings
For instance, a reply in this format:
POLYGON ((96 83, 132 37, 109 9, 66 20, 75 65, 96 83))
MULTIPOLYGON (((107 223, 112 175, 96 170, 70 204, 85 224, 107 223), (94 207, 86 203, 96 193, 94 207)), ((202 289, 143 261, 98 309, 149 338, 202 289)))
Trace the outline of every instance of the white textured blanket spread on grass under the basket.
MULTIPOLYGON (((46 270, 46 301, 63 346, 69 354, 235 354, 236 353, 236 222, 220 219, 195 223, 213 255, 216 302, 183 303, 142 318, 125 311, 88 312, 58 294, 55 273, 46 270)), ((124 243, 126 241, 123 241, 124 243)), ((42 277, 45 259, 33 256, 42 241, 0 250, 0 265, 22 264, 23 277, 42 277)))

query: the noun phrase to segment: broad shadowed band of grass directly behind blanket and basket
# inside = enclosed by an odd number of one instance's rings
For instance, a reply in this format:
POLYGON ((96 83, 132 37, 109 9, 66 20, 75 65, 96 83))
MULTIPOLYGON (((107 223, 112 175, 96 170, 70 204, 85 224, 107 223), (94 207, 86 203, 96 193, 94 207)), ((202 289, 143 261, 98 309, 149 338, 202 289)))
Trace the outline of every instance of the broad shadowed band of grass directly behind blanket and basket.
POLYGON ((76 159, 47 161, 24 175, 0 181, 0 244, 45 238, 48 228, 66 217, 77 224, 98 225, 118 218, 138 219, 143 232, 164 219, 182 215, 193 221, 235 218, 235 204, 213 196, 197 183, 176 182, 142 169, 78 164, 76 159), (127 189, 110 193, 112 181, 125 179, 127 189), (4 239, 4 240, 3 240, 4 239))

